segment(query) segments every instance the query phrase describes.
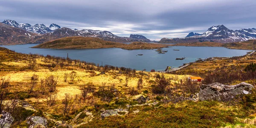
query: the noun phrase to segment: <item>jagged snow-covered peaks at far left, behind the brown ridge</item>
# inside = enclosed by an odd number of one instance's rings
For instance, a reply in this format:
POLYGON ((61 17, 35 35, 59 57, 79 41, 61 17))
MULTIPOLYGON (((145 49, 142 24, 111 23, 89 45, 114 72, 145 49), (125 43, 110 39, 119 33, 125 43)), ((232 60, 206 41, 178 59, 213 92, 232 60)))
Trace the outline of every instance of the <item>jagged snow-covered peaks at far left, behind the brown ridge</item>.
POLYGON ((54 23, 52 23, 49 27, 45 26, 44 24, 35 24, 32 26, 29 23, 17 23, 15 20, 4 20, 2 23, 37 34, 49 33, 61 28, 54 23))

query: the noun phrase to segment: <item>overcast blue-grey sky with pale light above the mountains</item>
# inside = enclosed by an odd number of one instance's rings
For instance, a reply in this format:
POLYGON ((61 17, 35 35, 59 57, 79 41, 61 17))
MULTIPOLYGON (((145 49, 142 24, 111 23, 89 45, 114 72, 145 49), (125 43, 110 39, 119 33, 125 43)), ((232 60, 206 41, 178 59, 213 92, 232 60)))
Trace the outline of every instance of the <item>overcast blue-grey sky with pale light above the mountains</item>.
POLYGON ((256 27, 256 0, 0 0, 0 20, 56 23, 151 40, 183 38, 213 25, 256 27))

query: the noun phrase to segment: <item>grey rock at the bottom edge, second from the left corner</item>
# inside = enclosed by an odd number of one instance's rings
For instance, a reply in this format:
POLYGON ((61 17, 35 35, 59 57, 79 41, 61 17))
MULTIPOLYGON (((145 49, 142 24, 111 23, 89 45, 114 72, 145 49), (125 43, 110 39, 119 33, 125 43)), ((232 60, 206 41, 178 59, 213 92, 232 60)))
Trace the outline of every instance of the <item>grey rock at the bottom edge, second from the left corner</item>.
POLYGON ((29 128, 47 128, 47 120, 40 116, 29 116, 27 119, 29 128))

